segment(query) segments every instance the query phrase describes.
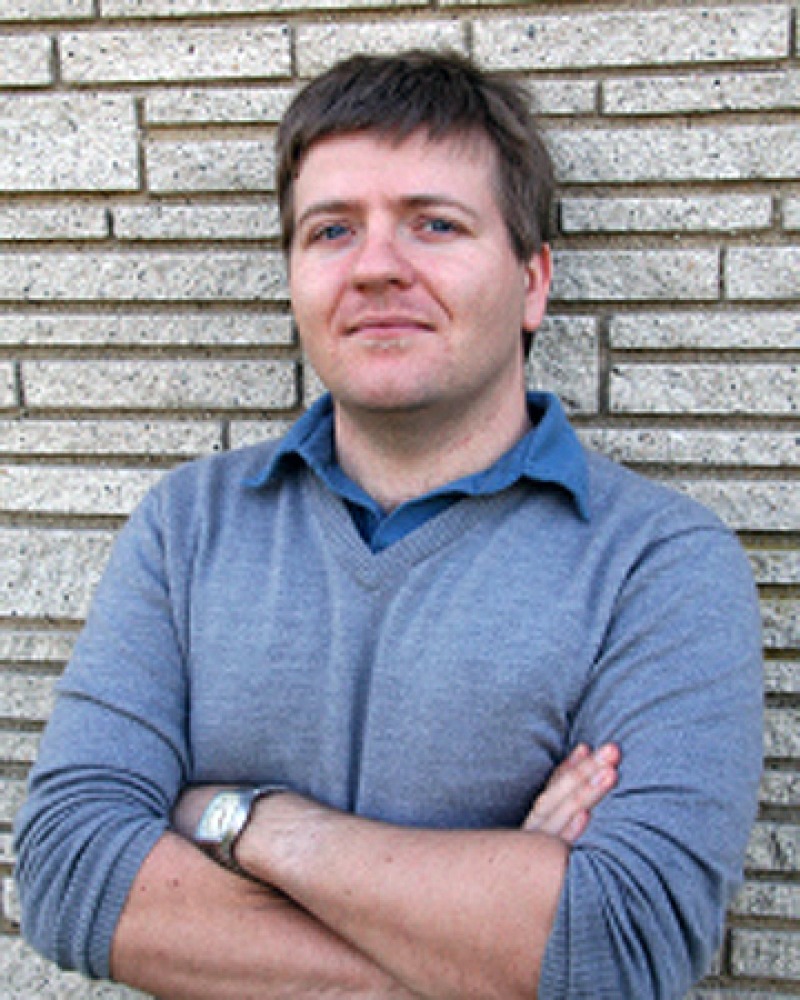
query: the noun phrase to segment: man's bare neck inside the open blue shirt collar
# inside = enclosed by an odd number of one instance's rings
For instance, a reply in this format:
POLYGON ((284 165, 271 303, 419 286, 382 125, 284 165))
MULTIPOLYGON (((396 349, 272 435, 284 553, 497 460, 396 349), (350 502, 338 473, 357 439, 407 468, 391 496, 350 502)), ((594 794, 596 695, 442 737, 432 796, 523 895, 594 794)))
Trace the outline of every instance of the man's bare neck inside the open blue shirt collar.
POLYGON ((334 421, 339 464, 385 511, 489 468, 531 427, 524 393, 468 420, 454 414, 434 422, 425 409, 354 412, 336 403, 334 421))

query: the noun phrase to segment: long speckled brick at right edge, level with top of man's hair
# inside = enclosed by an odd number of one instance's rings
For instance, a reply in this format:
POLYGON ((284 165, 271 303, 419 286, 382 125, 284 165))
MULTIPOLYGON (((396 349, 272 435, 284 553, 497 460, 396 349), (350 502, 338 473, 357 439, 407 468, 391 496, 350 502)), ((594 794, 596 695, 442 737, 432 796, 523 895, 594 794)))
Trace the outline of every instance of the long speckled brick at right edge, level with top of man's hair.
POLYGON ((800 107, 800 73, 687 74, 639 77, 603 84, 603 110, 612 115, 670 115, 709 111, 777 111, 800 107))

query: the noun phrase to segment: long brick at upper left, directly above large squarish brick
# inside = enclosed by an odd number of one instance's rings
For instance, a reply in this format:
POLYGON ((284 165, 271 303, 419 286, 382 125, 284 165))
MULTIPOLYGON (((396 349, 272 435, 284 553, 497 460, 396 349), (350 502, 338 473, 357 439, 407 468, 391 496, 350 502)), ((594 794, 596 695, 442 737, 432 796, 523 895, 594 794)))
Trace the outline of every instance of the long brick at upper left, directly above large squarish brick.
POLYGON ((289 41, 285 25, 65 32, 61 71, 80 84, 280 77, 289 41))

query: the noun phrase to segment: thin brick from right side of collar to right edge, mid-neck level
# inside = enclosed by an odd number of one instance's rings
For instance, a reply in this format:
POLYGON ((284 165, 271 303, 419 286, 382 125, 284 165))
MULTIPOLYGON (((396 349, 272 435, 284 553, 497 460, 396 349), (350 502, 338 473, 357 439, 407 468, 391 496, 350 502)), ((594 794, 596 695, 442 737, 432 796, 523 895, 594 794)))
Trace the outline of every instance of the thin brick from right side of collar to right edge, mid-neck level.
POLYGON ((581 436, 616 461, 639 465, 800 466, 798 435, 793 431, 607 427, 585 430, 581 436))

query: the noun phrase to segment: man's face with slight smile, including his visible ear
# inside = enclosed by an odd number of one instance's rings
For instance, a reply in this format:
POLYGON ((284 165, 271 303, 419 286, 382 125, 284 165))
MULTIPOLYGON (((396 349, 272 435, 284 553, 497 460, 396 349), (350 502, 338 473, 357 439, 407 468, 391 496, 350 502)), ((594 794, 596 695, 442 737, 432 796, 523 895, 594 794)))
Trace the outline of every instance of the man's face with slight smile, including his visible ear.
POLYGON ((514 255, 482 138, 312 146, 294 185, 294 315, 337 405, 479 417, 521 394, 523 327, 550 280, 545 249, 514 255), (488 408, 488 409, 487 409, 488 408))

